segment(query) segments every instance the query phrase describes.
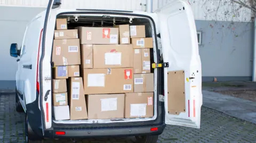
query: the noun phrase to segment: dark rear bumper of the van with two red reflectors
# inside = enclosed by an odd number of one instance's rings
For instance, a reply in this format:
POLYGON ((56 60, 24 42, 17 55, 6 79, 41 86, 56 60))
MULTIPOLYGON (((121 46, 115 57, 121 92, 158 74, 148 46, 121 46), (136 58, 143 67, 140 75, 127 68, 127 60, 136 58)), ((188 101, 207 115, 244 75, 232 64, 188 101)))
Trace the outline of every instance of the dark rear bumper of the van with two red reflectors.
POLYGON ((137 128, 118 128, 118 129, 93 129, 93 130, 76 130, 76 129, 64 129, 64 130, 46 130, 45 138, 59 139, 59 138, 94 138, 94 137, 126 137, 126 136, 143 136, 143 135, 159 135, 162 134, 165 128, 165 124, 150 126, 150 127, 137 127, 137 128), (151 128, 158 128, 158 130, 151 131, 151 128), (56 132, 61 132, 62 135, 56 132), (63 134, 65 132, 65 134, 63 134))

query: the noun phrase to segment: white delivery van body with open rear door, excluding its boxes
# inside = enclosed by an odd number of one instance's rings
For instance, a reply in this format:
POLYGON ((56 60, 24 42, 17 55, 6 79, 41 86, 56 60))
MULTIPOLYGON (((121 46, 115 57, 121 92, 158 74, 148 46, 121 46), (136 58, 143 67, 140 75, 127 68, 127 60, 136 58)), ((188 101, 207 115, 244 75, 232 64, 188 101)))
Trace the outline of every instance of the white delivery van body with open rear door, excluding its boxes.
POLYGON ((26 141, 47 138, 135 136, 138 142, 157 142, 165 125, 200 128, 202 72, 197 32, 190 4, 177 0, 156 13, 111 10, 62 9, 49 1, 47 9, 31 20, 17 57, 16 109, 26 113, 26 141), (63 120, 52 117, 52 47, 55 21, 67 18, 68 26, 88 24, 143 24, 153 37, 154 116, 122 120, 63 120), (162 49, 157 35, 161 33, 162 49), (160 47, 160 46, 159 46, 160 47), (163 61, 160 60, 163 53, 163 61), (164 97, 164 98, 161 98, 164 97), (164 100, 163 100, 164 99, 164 100))

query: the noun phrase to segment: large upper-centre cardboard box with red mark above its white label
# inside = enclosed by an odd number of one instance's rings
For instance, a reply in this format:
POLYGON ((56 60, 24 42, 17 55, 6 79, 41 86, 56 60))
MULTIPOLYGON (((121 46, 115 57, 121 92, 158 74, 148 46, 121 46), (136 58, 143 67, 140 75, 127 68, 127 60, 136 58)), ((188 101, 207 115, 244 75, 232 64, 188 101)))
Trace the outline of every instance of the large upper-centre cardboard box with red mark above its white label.
POLYGON ((132 68, 132 45, 93 45, 93 68, 132 68))

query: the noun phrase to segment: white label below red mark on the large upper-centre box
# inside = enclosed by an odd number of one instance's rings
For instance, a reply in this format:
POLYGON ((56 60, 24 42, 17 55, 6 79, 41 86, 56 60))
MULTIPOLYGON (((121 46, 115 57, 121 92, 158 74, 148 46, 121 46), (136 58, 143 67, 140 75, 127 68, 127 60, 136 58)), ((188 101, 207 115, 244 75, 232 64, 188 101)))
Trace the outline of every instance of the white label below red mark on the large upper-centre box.
POLYGON ((105 65, 121 65, 122 53, 105 53, 105 65))

